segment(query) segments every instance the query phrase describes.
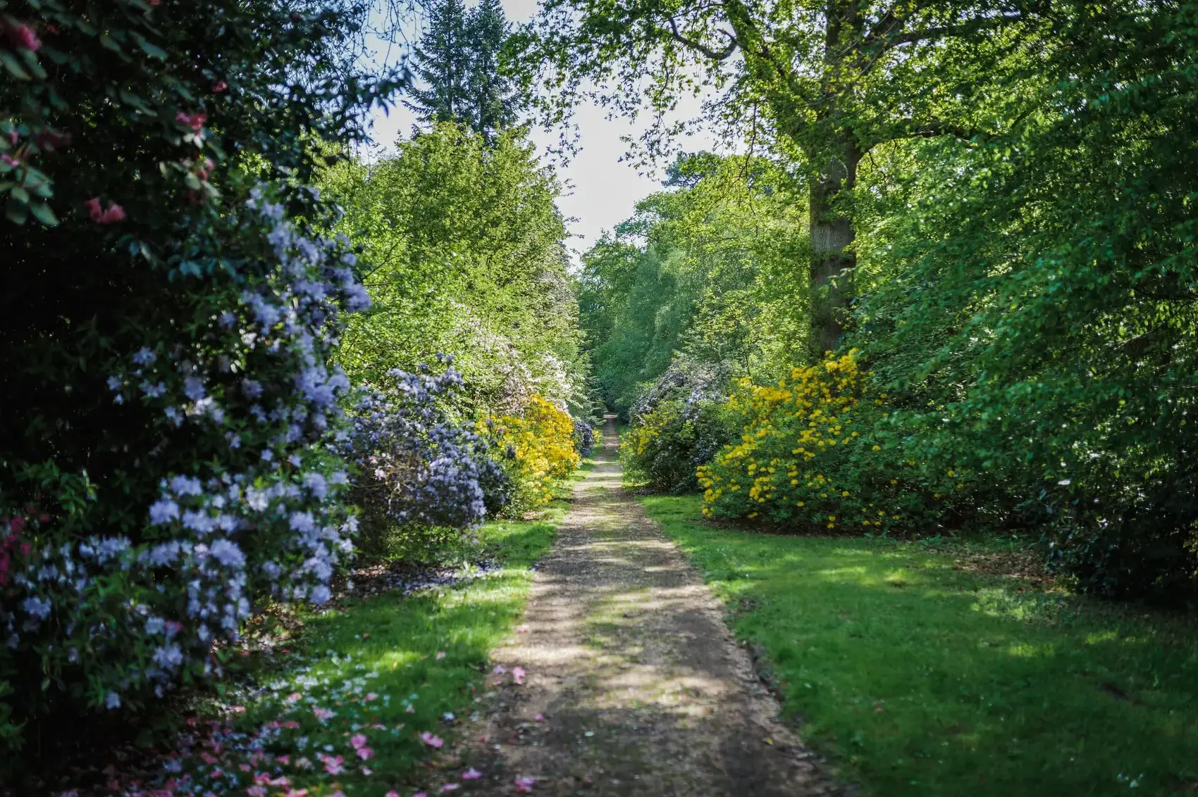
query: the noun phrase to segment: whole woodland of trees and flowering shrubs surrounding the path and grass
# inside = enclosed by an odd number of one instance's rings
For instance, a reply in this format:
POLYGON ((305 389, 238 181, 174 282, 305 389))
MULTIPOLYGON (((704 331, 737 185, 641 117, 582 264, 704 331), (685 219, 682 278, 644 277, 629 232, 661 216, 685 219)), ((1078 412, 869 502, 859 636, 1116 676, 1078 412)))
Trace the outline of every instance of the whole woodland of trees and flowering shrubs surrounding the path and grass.
POLYGON ((1196 55, 1190 0, 0 0, 0 785, 363 562, 480 560, 604 412, 721 523, 1192 614, 1196 55), (665 180, 571 264, 531 130, 581 102, 665 180))

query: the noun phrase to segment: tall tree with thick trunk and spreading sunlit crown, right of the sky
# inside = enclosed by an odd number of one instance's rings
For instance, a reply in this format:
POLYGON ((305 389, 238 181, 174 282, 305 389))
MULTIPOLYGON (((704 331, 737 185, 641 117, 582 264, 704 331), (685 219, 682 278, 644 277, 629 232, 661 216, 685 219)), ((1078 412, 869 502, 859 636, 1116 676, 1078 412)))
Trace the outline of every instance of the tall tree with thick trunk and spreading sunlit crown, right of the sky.
MULTIPOLYGON (((547 0, 527 31, 547 96, 600 97, 658 118, 700 85, 809 181, 810 345, 836 348, 848 321, 855 237, 848 195, 879 144, 973 138, 988 89, 1033 71, 1040 0, 547 0), (646 85, 648 83, 648 91, 646 85)), ((552 103, 552 101, 550 101, 552 103)), ((561 105, 556 109, 561 112, 561 105)), ((664 128, 649 134, 653 146, 664 128)))

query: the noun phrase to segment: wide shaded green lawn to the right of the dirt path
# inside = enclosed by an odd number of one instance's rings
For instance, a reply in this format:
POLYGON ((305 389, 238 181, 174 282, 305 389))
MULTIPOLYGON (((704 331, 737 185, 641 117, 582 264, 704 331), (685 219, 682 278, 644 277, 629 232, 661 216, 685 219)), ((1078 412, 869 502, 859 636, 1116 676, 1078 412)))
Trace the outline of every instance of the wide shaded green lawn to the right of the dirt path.
POLYGON ((697 497, 643 504, 863 795, 1198 791, 1194 623, 961 572, 951 546, 745 533, 703 523, 697 497))

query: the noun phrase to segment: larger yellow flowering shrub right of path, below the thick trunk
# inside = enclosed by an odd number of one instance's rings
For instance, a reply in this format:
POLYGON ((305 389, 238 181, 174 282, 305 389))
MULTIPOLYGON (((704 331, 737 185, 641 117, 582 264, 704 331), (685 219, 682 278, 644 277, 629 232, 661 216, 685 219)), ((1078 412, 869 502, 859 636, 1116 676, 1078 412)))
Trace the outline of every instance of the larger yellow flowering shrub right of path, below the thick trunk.
POLYGON ((907 461, 857 353, 794 369, 789 379, 742 382, 728 409, 740 442, 698 468, 707 516, 882 533, 942 519, 966 475, 907 461))

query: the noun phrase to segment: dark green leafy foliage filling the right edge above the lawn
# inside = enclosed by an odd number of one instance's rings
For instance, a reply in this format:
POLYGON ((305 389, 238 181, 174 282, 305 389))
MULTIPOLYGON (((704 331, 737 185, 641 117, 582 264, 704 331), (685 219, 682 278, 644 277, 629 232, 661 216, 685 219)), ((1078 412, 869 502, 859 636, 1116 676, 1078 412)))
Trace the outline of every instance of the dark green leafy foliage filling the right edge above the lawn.
POLYGON ((998 487, 981 511, 1085 589, 1193 594, 1198 7, 1063 2, 1051 42, 1002 134, 877 176, 858 342, 907 454, 998 487))

